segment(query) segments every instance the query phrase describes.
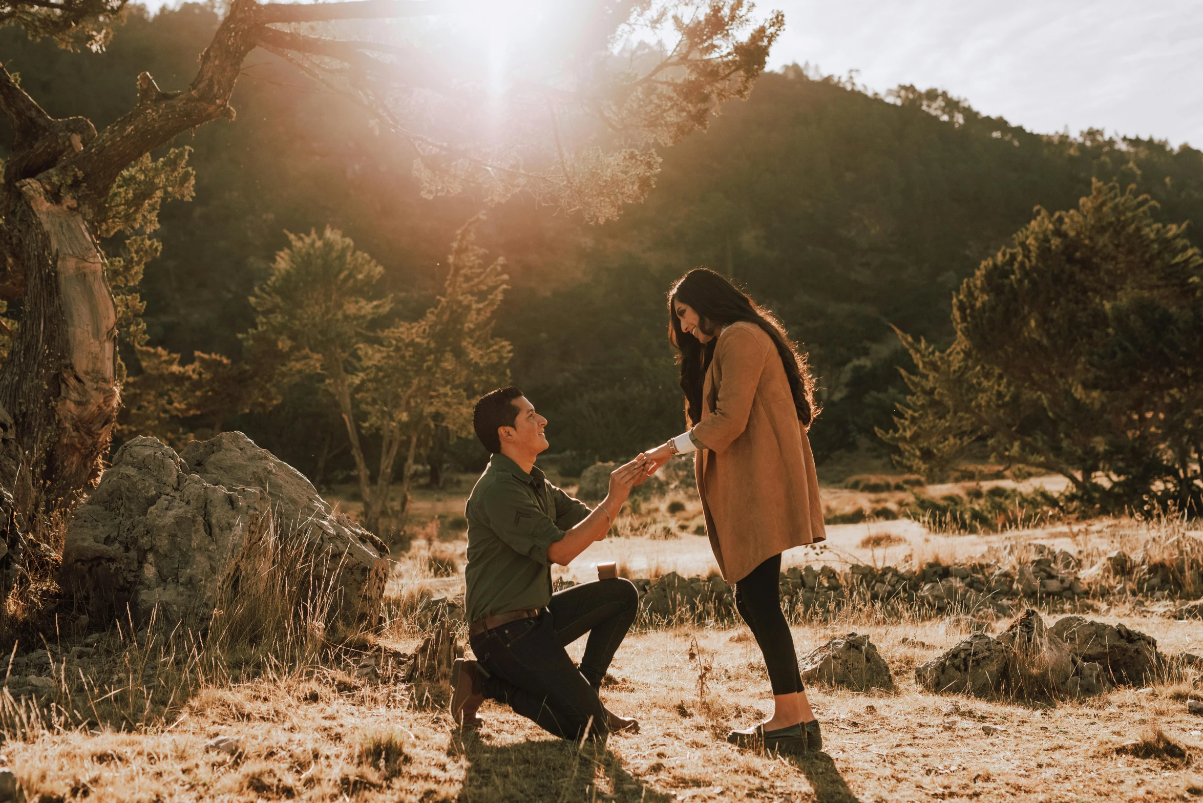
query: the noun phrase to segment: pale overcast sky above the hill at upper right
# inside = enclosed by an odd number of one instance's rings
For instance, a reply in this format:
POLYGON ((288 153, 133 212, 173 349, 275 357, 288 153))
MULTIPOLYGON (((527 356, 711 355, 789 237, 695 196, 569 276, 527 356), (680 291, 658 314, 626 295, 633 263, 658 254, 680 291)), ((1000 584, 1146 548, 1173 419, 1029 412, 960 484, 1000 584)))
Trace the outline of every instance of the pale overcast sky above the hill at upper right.
POLYGON ((937 87, 1042 133, 1088 127, 1203 148, 1201 0, 759 0, 772 66, 937 87))

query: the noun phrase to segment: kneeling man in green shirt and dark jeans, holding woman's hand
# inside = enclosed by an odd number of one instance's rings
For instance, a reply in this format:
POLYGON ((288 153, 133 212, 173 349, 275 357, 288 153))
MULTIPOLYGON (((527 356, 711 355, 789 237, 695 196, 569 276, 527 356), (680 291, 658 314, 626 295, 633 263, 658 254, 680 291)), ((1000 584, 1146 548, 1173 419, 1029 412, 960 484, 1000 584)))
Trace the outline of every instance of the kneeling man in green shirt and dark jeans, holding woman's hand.
POLYGON ((638 730, 602 704, 602 678, 635 620, 639 593, 626 579, 602 579, 552 594, 551 564, 567 566, 610 530, 646 465, 610 475, 610 493, 592 511, 547 482, 534 465, 547 448, 547 420, 516 387, 476 403, 473 426, 492 452, 468 499, 468 635, 475 661, 456 661, 451 714, 478 726, 486 698, 510 706, 565 739, 638 730), (577 667, 564 646, 585 634, 577 667))

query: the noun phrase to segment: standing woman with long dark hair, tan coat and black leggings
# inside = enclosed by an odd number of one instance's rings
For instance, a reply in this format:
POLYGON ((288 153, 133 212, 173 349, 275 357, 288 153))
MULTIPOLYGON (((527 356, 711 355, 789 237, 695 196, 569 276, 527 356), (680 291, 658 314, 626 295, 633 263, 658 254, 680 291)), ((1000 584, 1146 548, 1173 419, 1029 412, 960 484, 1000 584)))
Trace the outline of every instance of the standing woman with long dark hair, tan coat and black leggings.
POLYGON ((772 684, 772 716, 727 740, 822 750, 780 594, 781 553, 826 537, 806 438, 814 417, 806 358, 772 313, 706 268, 672 285, 669 320, 691 428, 647 452, 648 470, 697 452, 710 546, 723 578, 735 584, 735 606, 772 684))

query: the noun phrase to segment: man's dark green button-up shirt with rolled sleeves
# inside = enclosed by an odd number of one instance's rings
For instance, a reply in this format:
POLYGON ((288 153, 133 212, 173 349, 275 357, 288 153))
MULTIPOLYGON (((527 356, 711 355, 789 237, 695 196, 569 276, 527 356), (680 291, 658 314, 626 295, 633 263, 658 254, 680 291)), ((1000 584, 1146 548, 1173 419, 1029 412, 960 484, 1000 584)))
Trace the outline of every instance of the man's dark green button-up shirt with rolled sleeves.
POLYGON ((547 547, 591 513, 538 468, 527 474, 493 454, 472 489, 468 518, 468 620, 541 608, 551 601, 547 547))

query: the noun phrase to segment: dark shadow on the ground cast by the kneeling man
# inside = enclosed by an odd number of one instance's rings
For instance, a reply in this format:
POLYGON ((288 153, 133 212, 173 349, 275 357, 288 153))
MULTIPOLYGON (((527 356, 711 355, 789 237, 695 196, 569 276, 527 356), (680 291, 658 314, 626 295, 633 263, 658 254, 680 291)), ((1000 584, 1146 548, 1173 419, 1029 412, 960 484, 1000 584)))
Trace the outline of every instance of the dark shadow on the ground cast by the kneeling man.
POLYGON ((610 750, 592 743, 579 747, 546 740, 494 747, 468 732, 454 738, 451 749, 462 749, 468 760, 460 792, 464 803, 676 799, 632 777, 610 750))

